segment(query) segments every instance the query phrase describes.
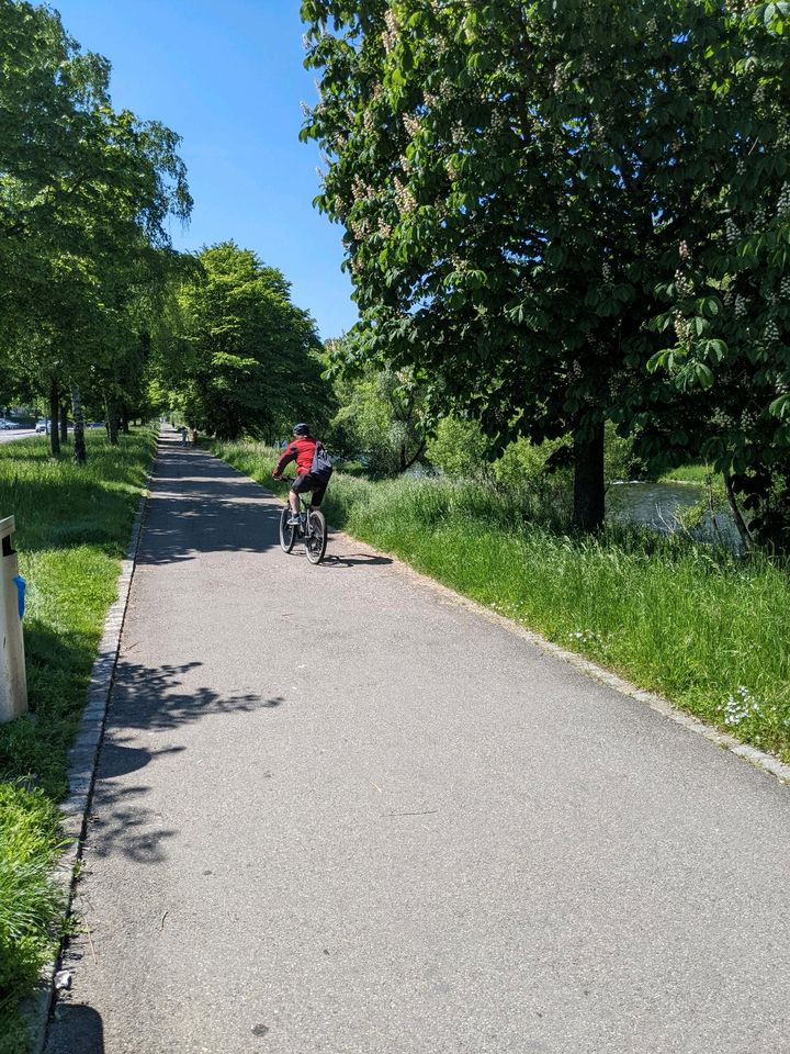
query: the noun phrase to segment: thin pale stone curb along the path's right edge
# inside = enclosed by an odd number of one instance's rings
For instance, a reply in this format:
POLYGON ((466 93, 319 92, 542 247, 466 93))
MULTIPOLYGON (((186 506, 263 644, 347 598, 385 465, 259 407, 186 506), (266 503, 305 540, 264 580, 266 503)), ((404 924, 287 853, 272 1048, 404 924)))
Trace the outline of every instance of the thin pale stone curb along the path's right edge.
MULTIPOLYGON (((222 461, 224 464, 227 464, 228 468, 234 470, 234 472, 238 472, 239 475, 250 480, 250 482, 258 483, 258 486, 261 487, 264 494, 268 494, 270 497, 273 497, 275 501, 281 502, 282 504, 285 504, 280 495, 268 490, 266 484, 260 483, 258 480, 253 480, 252 476, 241 472, 240 469, 237 469, 235 466, 230 464, 229 461, 225 461, 224 458, 217 457, 217 455, 212 453, 210 450, 206 450, 205 452, 208 453, 210 457, 216 458, 217 461, 222 461)), ((749 762, 749 764, 752 764, 755 769, 758 769, 766 775, 772 776, 780 784, 790 786, 790 764, 786 764, 783 761, 780 761, 780 759, 775 754, 769 754, 767 751, 759 750, 757 747, 751 747, 748 743, 743 743, 740 739, 736 739, 729 732, 724 732, 721 729, 715 728, 713 725, 708 725, 701 718, 695 717, 692 714, 688 714, 686 710, 680 709, 680 707, 676 706, 657 692, 651 692, 647 688, 640 688, 639 685, 633 684, 625 677, 621 677, 611 670, 607 670, 605 666, 598 665, 598 663, 592 662, 591 659, 586 659, 584 655, 578 654, 578 652, 568 651, 561 644, 555 644, 546 637, 541 636, 541 633, 538 633, 532 629, 528 629, 520 623, 507 618, 505 615, 499 615, 497 612, 492 610, 492 608, 486 607, 485 604, 481 604, 478 601, 472 599, 472 597, 464 596, 462 593, 458 593, 455 590, 450 588, 449 585, 444 585, 443 582, 439 582, 438 579, 433 579, 429 574, 417 571, 416 568, 413 568, 411 564, 406 563, 405 560, 402 560, 395 553, 376 549, 376 547, 372 546, 369 541, 363 541, 361 538, 356 538, 353 535, 348 534, 348 531, 338 530, 330 524, 327 524, 327 527, 336 535, 341 535, 343 538, 348 538, 350 541, 353 541, 354 545, 366 546, 372 552, 386 556, 398 568, 402 574, 406 574, 418 580, 424 585, 442 595, 448 602, 454 605, 460 605, 461 607, 465 607, 469 610, 476 612, 478 615, 482 615, 489 621, 501 626, 504 629, 508 630, 508 632, 515 633, 517 637, 521 637, 523 640, 528 641, 533 647, 539 648, 546 654, 553 655, 554 658, 560 659, 562 662, 574 666, 592 681, 597 681, 599 684, 605 684, 607 687, 613 688, 618 694, 634 699, 636 703, 641 703, 643 706, 648 706, 652 710, 661 714, 667 720, 682 726, 687 731, 692 732, 695 736, 700 736, 702 739, 707 739, 715 747, 735 754, 743 761, 749 762)))

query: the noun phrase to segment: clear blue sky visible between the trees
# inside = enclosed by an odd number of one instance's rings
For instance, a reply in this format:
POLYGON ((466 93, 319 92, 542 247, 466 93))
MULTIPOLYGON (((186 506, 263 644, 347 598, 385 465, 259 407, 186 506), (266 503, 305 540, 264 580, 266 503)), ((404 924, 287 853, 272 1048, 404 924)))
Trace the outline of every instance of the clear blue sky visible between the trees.
POLYGON ((64 25, 113 66, 116 109, 161 121, 183 137, 192 221, 177 248, 233 238, 279 267, 321 337, 357 313, 340 271, 340 228, 313 208, 314 144, 298 141, 302 66, 298 0, 53 0, 64 25))

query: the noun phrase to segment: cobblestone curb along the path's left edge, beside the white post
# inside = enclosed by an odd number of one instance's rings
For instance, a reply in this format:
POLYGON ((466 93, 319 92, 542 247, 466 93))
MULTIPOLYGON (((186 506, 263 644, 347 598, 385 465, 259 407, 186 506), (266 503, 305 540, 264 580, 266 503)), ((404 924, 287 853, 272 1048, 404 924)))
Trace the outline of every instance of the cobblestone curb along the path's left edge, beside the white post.
MULTIPOLYGON (((102 638, 91 668, 90 682, 86 693, 86 706, 69 750, 69 790, 59 806, 60 829, 68 844, 57 862, 54 874, 55 882, 63 892, 64 917, 66 919, 71 913, 77 865, 82 859, 88 810, 93 797, 99 753, 104 738, 104 726, 121 649, 121 633, 132 591, 132 580, 137 565, 137 553, 143 537, 156 457, 157 455, 155 455, 143 485, 137 512, 132 522, 129 543, 126 548, 126 556, 121 561, 121 571, 117 576, 117 596, 104 618, 102 638)), ((49 1014, 55 999, 55 976, 64 943, 65 938, 61 938, 56 958, 42 971, 40 987, 22 1002, 22 1012, 26 1019, 30 1034, 31 1054, 44 1054, 49 1014)))

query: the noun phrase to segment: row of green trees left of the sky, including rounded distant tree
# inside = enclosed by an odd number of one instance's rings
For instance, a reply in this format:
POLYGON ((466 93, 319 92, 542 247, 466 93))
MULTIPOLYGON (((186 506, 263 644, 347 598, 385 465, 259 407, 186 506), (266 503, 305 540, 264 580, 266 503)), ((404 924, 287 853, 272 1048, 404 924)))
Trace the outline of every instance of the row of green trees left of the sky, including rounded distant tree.
POLYGON ((315 326, 283 276, 233 243, 173 248, 179 144, 113 108, 110 63, 56 11, 0 0, 0 402, 44 400, 55 456, 71 417, 84 461, 83 405, 117 444, 157 412, 256 434, 293 415, 298 378, 316 394, 315 326))

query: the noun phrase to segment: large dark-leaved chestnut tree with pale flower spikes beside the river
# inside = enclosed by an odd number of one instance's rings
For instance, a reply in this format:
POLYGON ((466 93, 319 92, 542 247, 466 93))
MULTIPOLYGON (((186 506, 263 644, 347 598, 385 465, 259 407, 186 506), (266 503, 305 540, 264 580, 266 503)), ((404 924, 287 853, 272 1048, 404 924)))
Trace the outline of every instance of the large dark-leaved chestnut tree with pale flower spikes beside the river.
POLYGON ((408 378, 504 446, 607 422, 724 474, 790 538, 788 3, 304 0, 361 323, 336 368, 408 378))

